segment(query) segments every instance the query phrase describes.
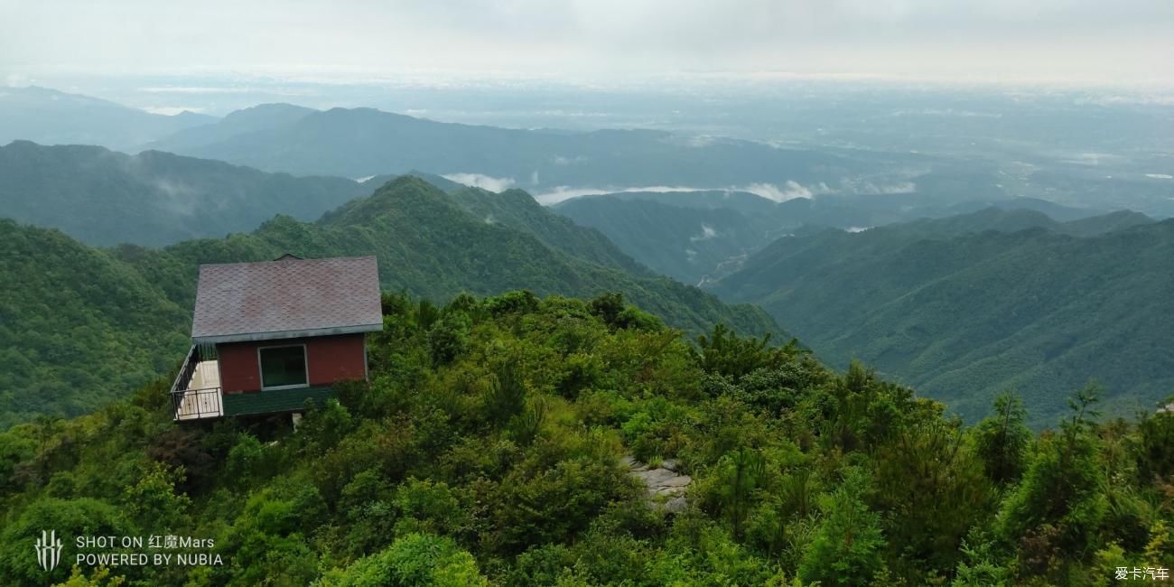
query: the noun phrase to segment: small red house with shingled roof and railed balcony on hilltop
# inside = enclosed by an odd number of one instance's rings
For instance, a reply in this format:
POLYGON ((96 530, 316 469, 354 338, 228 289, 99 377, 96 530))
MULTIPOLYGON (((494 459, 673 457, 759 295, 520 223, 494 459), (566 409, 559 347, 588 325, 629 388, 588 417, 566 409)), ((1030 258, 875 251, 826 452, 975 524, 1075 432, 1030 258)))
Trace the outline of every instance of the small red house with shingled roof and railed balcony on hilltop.
POLYGON ((175 419, 301 412, 366 379, 366 332, 379 330, 375 257, 200 265, 175 419))

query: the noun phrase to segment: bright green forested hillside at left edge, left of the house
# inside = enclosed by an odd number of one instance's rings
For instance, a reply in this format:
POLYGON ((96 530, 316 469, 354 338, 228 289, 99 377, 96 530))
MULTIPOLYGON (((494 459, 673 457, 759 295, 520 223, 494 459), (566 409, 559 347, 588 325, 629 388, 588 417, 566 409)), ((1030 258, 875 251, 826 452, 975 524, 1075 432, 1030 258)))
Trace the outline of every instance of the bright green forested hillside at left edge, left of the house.
POLYGON ((110 252, 0 218, 0 429, 90 412, 174 369, 181 308, 110 252))

